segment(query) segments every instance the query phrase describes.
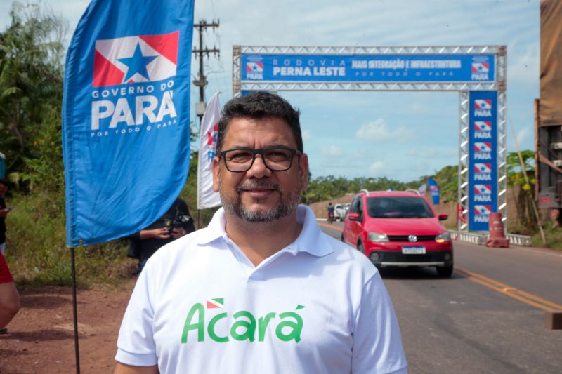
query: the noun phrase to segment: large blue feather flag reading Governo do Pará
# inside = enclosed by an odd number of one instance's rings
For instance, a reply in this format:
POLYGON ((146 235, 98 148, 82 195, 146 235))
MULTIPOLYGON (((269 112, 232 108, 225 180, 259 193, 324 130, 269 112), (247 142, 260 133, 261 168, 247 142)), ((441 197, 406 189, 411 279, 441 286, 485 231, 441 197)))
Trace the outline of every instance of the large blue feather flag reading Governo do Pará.
POLYGON ((193 0, 93 0, 68 48, 67 246, 162 216, 189 170, 193 0))

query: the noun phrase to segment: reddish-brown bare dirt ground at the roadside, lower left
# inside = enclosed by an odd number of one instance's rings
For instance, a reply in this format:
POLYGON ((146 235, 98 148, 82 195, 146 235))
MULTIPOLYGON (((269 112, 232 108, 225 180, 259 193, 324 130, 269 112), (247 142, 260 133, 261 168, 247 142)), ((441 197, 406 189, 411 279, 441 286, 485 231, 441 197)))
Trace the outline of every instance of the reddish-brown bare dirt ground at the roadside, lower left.
MULTIPOLYGON (((81 373, 112 373, 117 333, 134 286, 125 290, 78 290, 81 373)), ((72 289, 20 290, 21 309, 0 335, 4 374, 76 373, 72 289)))

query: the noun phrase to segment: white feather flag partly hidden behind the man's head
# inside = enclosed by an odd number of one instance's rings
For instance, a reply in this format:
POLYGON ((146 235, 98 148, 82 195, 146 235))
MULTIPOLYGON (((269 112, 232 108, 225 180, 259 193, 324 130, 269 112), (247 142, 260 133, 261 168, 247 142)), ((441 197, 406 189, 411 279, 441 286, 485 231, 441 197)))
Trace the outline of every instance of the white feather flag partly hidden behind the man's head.
POLYGON ((197 209, 213 208, 221 205, 221 196, 213 191, 213 158, 216 156, 216 135, 221 105, 217 92, 213 95, 203 119, 199 134, 199 162, 197 163, 197 209))

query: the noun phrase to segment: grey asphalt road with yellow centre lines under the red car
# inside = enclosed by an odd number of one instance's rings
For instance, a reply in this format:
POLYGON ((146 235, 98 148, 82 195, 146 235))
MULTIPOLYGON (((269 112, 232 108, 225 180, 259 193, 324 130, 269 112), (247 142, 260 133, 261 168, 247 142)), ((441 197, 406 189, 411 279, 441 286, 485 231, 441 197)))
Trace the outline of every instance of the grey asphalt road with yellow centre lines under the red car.
MULTIPOLYGON (((339 239, 341 223, 320 222, 339 239)), ((409 373, 562 373, 562 251, 455 241, 455 272, 382 269, 409 373)))

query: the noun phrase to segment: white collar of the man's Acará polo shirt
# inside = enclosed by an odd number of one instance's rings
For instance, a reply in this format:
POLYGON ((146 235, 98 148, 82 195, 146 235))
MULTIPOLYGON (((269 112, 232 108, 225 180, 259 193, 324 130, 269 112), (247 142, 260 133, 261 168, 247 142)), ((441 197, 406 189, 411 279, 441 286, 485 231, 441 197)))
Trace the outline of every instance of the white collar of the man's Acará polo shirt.
MULTIPOLYGON (((318 226, 311 208, 299 205, 296 208, 296 220, 303 225, 303 229, 296 240, 285 248, 287 252, 293 255, 299 252, 307 252, 318 257, 334 252, 332 244, 318 226)), ((209 226, 200 230, 200 235, 197 236, 197 244, 204 246, 218 239, 226 241, 225 224, 226 215, 224 208, 220 208, 213 215, 209 226)))

